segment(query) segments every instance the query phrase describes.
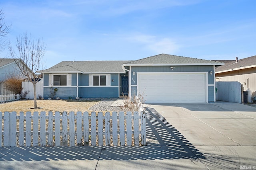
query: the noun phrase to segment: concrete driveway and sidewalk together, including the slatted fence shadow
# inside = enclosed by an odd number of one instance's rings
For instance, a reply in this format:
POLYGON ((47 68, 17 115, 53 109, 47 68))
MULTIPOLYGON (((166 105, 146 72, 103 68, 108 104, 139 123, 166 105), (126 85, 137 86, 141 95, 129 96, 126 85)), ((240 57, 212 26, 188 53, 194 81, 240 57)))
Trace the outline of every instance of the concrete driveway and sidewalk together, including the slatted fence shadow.
POLYGON ((256 108, 151 104, 145 147, 0 147, 1 169, 165 170, 256 166, 256 108))

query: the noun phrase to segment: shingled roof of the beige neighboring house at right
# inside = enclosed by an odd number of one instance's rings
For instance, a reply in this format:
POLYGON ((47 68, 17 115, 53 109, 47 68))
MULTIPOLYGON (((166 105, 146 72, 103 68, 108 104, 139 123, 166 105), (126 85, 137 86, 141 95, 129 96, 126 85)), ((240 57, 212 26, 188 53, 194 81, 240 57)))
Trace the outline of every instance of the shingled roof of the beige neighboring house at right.
POLYGON ((256 67, 256 55, 244 59, 238 59, 238 62, 231 61, 228 63, 225 63, 224 66, 218 66, 215 69, 215 73, 221 73, 221 72, 228 72, 232 70, 240 70, 245 68, 252 68, 256 67))

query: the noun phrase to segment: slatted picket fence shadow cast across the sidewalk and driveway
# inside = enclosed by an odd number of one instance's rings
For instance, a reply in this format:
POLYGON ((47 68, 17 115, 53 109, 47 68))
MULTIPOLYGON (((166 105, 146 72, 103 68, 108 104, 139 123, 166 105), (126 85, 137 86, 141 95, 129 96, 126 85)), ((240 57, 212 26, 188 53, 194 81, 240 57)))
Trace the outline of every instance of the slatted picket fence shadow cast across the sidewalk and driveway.
POLYGON ((204 155, 152 108, 146 109, 147 146, 143 147, 2 147, 1 161, 49 160, 162 160, 204 155))

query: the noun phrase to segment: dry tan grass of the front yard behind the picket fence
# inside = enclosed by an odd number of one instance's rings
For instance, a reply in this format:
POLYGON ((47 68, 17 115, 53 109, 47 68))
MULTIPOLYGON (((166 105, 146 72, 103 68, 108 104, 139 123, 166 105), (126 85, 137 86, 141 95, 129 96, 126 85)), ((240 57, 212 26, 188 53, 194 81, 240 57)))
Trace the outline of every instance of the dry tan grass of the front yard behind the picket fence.
POLYGON ((19 113, 20 111, 88 111, 91 112, 89 109, 94 104, 98 102, 90 102, 90 101, 79 101, 79 102, 69 102, 68 100, 37 100, 37 106, 39 108, 33 109, 34 101, 33 100, 18 100, 14 102, 2 103, 0 104, 0 111, 16 111, 19 113))

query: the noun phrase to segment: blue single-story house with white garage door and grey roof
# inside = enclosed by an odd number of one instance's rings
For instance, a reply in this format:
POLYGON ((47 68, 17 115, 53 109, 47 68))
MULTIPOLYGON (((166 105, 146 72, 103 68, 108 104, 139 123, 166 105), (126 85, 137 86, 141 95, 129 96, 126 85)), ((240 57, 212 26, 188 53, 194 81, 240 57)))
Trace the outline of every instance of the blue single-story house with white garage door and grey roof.
POLYGON ((208 61, 160 54, 136 61, 62 61, 43 70, 44 98, 143 95, 146 102, 215 102, 215 66, 208 61), (138 92, 138 93, 137 93, 138 92))

